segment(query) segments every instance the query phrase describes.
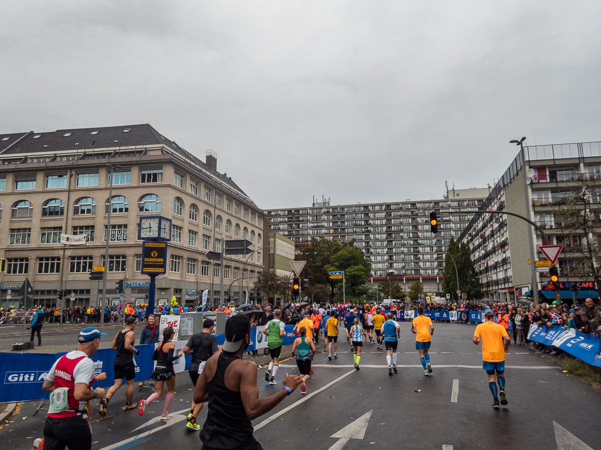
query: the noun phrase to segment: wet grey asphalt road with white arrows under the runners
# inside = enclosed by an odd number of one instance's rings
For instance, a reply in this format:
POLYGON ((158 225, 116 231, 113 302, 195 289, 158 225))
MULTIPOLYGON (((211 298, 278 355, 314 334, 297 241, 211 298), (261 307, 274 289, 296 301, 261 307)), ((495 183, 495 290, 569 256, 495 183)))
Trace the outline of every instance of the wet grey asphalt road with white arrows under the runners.
MULTIPOLYGON (((432 377, 423 375, 407 323, 401 323, 399 373, 394 376, 388 376, 385 353, 371 344, 364 346, 361 370, 354 370, 350 347, 346 340, 341 341, 338 359, 329 361, 327 353, 314 358, 315 373, 307 383, 307 395, 301 395, 299 389, 253 421, 255 437, 266 450, 349 450, 371 445, 420 450, 451 449, 444 446, 456 450, 586 449, 582 442, 601 450, 598 389, 566 376, 551 359, 512 345, 505 363, 509 403, 494 410, 481 368, 481 349, 471 342, 475 327, 435 323, 435 328, 430 352, 432 377), (452 401, 454 386, 456 401, 452 401), (563 440, 573 446, 563 445, 563 440)), ((286 372, 297 373, 293 362, 281 364, 276 386, 266 386, 264 369, 258 370, 261 396, 280 389, 286 372)), ((150 393, 147 388, 136 390, 134 401, 150 393)), ((94 407, 94 450, 146 448, 148 444, 153 448, 200 448, 198 433, 185 429, 192 397, 188 374, 178 375, 171 406, 178 414, 166 423, 156 420, 164 397, 147 407, 141 418, 135 411, 121 411, 123 395, 124 388, 111 400, 105 418, 99 418, 94 407)), ((32 417, 35 406, 33 402, 23 404, 13 422, 0 430, 5 437, 3 448, 29 449, 32 439, 41 436, 45 415, 32 417)), ((200 424, 205 417, 206 409, 199 416, 200 424)))

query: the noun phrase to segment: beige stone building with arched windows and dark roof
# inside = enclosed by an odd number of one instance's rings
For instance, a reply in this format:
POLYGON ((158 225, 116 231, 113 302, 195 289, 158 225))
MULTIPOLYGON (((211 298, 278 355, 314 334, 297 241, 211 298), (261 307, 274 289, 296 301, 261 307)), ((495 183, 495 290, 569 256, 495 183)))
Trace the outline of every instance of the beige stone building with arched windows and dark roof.
POLYGON ((218 302, 222 273, 224 299, 231 294, 240 301, 247 290, 258 297, 251 291, 267 261, 263 211, 217 171, 215 152, 201 161, 144 124, 0 134, 0 162, 0 213, 7 209, 0 215, 0 256, 7 259, 2 306, 18 302, 14 292, 6 298, 7 289, 16 290, 25 277, 34 286, 34 305, 60 305, 59 290, 75 294, 63 305, 100 305, 102 281, 88 279, 93 266, 108 270, 106 302, 145 302, 150 278, 140 274, 138 238, 145 215, 172 220, 167 272, 156 279, 158 304, 171 296, 192 302, 204 289, 218 302), (61 244, 61 233, 86 235, 87 242, 61 244), (205 254, 221 252, 224 239, 248 239, 254 253, 226 256, 222 268, 205 254), (125 281, 123 299, 117 280, 125 281))

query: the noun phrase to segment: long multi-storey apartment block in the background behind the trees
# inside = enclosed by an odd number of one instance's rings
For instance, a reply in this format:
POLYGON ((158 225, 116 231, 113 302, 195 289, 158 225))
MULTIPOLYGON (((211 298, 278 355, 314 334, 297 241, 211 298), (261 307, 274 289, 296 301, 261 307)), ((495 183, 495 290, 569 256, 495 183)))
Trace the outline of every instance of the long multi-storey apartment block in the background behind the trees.
POLYGON ((269 231, 294 241, 297 248, 312 237, 325 236, 339 242, 355 239, 370 260, 374 281, 388 275, 408 290, 421 281, 426 292, 441 292, 445 250, 478 209, 488 188, 447 189, 443 199, 404 202, 331 205, 329 200, 311 207, 266 209, 269 231), (430 212, 438 214, 439 233, 430 232, 430 212))

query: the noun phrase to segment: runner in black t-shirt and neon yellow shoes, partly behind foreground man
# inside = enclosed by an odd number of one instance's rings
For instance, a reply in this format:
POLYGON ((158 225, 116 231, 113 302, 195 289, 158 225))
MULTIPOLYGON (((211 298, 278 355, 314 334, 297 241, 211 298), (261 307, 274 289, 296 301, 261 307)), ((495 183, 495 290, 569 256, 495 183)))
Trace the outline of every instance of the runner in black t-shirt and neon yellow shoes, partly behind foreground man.
MULTIPOLYGON (((204 369, 204 365, 209 358, 221 350, 221 346, 217 344, 217 338, 213 336, 213 326, 215 322, 211 319, 204 319, 203 331, 193 334, 186 346, 183 349, 185 355, 192 355, 188 374, 192 380, 192 384, 196 386, 198 376, 204 369)), ((186 428, 190 430, 200 430, 200 425, 196 423, 196 418, 203 410, 204 403, 196 404, 192 400, 192 409, 186 418, 186 428)))

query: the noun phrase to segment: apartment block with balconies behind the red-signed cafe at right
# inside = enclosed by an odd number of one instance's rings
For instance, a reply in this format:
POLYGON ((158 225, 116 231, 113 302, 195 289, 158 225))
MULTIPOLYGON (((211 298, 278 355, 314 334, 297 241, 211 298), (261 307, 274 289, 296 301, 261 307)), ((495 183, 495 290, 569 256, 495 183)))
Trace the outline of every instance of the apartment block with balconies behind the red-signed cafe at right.
MULTIPOLYGON (((547 244, 564 245, 558 259, 561 298, 572 299, 570 283, 577 283, 581 288, 579 298, 598 298, 592 278, 579 278, 572 274, 573 268, 582 259, 582 253, 573 251, 573 242, 557 227, 554 213, 562 207, 562 199, 570 196, 567 192, 570 188, 578 186, 582 180, 600 179, 600 167, 601 142, 525 146, 480 208, 482 211, 499 209, 528 217, 545 229, 551 241, 547 244)), ((587 205, 598 216, 601 197, 591 196, 587 205)), ((576 236, 576 246, 586 238, 576 236)), ((543 244, 542 236, 519 218, 506 214, 474 215, 460 240, 468 242, 483 290, 491 300, 515 301, 529 292, 533 283, 536 290, 540 289, 541 277, 548 281, 544 272, 536 272, 532 281, 532 266, 528 263, 532 259, 532 250, 534 260, 546 261, 538 249, 543 244)), ((540 301, 554 299, 555 293, 544 290, 543 296, 545 298, 540 301)))

